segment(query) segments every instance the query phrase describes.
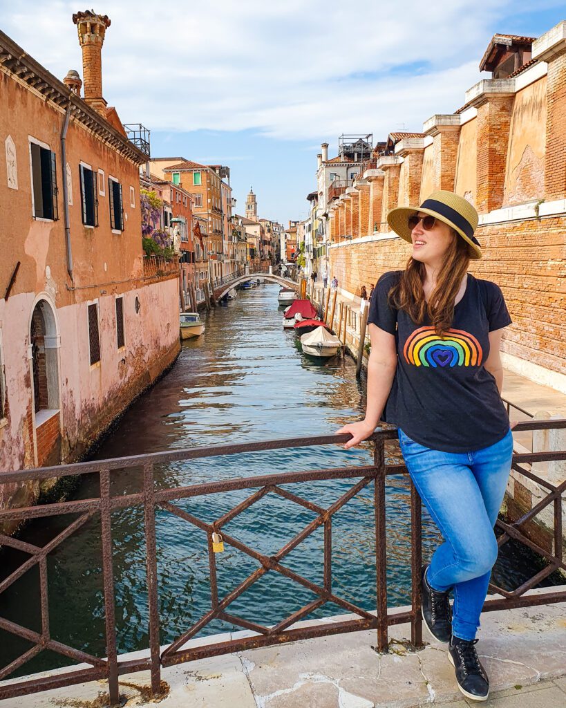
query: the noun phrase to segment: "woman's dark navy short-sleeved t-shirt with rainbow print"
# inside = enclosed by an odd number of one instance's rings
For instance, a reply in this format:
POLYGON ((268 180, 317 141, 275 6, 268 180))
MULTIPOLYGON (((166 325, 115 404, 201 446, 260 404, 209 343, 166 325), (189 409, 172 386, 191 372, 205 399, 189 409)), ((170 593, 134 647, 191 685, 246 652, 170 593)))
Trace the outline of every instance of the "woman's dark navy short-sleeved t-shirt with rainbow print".
POLYGON ((401 273, 384 273, 369 305, 368 322, 395 335, 398 354, 383 420, 434 450, 472 452, 495 445, 507 435, 509 417, 484 363, 488 333, 511 324, 500 288, 468 273, 452 326, 439 338, 428 316, 417 325, 404 310, 389 307, 388 292, 401 273))

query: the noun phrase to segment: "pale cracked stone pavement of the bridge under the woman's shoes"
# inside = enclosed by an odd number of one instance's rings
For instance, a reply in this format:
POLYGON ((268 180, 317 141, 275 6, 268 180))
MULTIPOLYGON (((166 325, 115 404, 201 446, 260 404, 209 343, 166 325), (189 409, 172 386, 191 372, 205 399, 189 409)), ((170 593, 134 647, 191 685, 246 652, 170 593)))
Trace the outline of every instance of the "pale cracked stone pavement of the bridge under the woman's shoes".
MULTIPOLYGON (((168 692, 159 705, 412 708, 444 704, 467 708, 472 704, 458 692, 446 645, 426 633, 425 648, 415 653, 408 649, 408 636, 408 624, 391 627, 390 652, 383 655, 374 649, 375 632, 357 632, 185 663, 163 670, 168 692)), ((478 650, 492 687, 492 697, 483 703, 486 708, 566 708, 563 603, 487 612, 482 617, 478 650)), ((121 658, 133 656, 140 653, 121 658)), ((148 698, 148 673, 124 676, 120 684, 128 707, 154 705, 148 698)), ((95 682, 6 700, 1 706, 101 708, 104 694, 105 684, 95 682)))

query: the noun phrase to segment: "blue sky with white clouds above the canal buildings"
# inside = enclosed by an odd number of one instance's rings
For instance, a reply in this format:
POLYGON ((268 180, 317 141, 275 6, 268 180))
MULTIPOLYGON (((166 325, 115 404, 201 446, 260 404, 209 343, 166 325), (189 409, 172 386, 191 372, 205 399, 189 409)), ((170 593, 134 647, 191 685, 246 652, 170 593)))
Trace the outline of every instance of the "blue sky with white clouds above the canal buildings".
MULTIPOLYGON (((82 75, 62 0, 0 0, 0 28, 52 74, 82 75)), ((258 215, 308 214, 316 154, 338 136, 420 132, 453 113, 495 33, 538 37, 564 0, 215 0, 97 2, 108 14, 103 93, 122 122, 151 130, 152 156, 231 169, 236 212, 253 185, 258 215)))

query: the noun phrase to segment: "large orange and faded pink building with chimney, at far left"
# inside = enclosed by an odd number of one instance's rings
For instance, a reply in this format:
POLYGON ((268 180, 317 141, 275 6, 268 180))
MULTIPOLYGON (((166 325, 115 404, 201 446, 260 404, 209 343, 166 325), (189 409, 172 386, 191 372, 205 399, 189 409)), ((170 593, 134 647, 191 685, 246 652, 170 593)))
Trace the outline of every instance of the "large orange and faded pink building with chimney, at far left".
MULTIPOLYGON (((103 98, 110 20, 73 19, 84 98, 0 32, 1 469, 79 458, 180 350, 178 265, 141 250, 147 153, 103 98)), ((37 493, 4 485, 0 507, 37 493)))

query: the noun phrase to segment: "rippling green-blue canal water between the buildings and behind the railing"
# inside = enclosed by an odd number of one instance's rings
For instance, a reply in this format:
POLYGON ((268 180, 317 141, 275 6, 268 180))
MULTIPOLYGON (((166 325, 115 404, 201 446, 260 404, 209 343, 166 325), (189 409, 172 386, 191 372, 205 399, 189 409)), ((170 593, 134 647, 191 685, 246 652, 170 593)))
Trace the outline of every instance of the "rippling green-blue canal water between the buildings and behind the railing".
MULTIPOLYGON (((272 438, 334 433, 364 411, 364 381, 355 378, 355 363, 346 356, 321 365, 308 360, 294 331, 282 329, 277 285, 240 292, 238 299, 207 314, 206 332, 183 343, 168 374, 122 416, 94 459, 141 455, 163 450, 253 442, 272 438)), ((395 452, 395 446, 390 450, 395 452)), ((337 445, 224 455, 175 462, 156 468, 159 487, 198 484, 235 476, 256 476, 371 462, 369 445, 345 451, 337 445)), ((88 476, 77 496, 98 494, 96 475, 88 476)), ((319 506, 330 506, 352 486, 349 480, 287 486, 319 506)), ((141 489, 141 471, 115 475, 112 493, 141 489)), ((249 496, 234 491, 181 501, 178 506, 212 521, 249 496)), ((410 602, 409 489, 403 476, 388 479, 386 490, 388 604, 410 602)), ((226 532, 266 554, 274 554, 302 530, 313 513, 269 494, 238 515, 226 532)), ((26 540, 44 545, 73 517, 47 519, 25 529, 26 540)), ((158 588, 161 644, 173 641, 211 607, 207 538, 204 532, 166 511, 157 514, 158 588)), ((372 530, 373 492, 364 489, 333 518, 333 592, 367 610, 374 609, 375 567, 372 530)), ((141 508, 112 513, 117 641, 120 653, 148 646, 148 605, 144 564, 144 520, 141 508)), ((440 541, 423 510, 423 555, 440 541)), ((495 581, 516 586, 531 568, 507 544, 495 568, 495 581)), ((4 552, 1 576, 25 560, 20 552, 4 552)), ((314 532, 284 559, 284 564, 314 583, 323 583, 323 532, 314 532)), ((216 555, 219 595, 223 597, 259 567, 226 545, 216 555)), ((25 573, 1 596, 0 615, 40 632, 37 568, 25 573)), ((103 582, 98 516, 66 539, 48 556, 51 636, 77 649, 105 656, 103 582)), ((270 571, 227 610, 253 622, 276 624, 315 599, 306 588, 270 571)), ((311 617, 341 614, 325 605, 311 617)), ((211 622, 198 636, 226 632, 233 625, 211 622)), ((0 630, 0 666, 32 644, 0 630)), ((72 663, 42 652, 20 673, 72 663)))

